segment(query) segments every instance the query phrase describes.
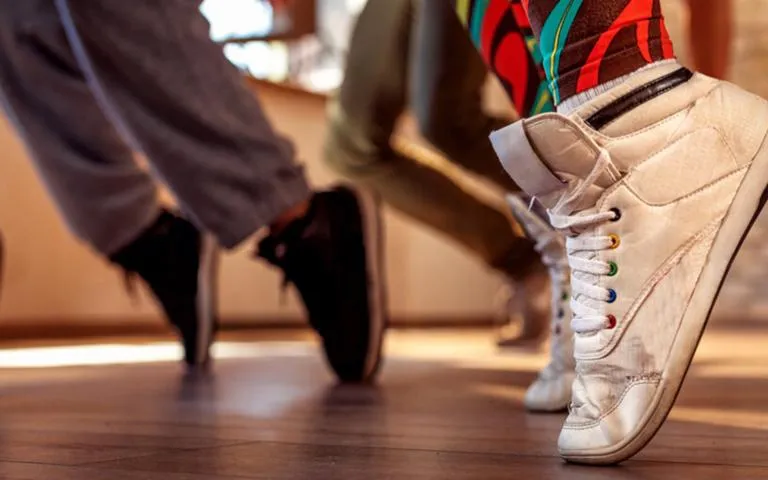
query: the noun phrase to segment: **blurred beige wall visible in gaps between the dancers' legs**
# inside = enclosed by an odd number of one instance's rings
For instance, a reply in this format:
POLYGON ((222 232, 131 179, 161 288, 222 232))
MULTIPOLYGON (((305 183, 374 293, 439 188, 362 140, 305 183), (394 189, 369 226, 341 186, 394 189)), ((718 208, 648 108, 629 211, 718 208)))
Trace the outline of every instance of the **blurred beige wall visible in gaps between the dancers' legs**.
MULTIPOLYGON (((664 0, 667 21, 682 58, 686 9, 682 0, 664 0)), ((732 79, 768 95, 768 0, 736 0, 732 79)), ((504 103, 496 92, 491 103, 504 103)), ((330 176, 319 164, 324 115, 318 102, 269 95, 266 106, 277 127, 297 140, 301 159, 312 179, 326 184, 330 176)), ((137 317, 156 322, 149 301, 134 305, 125 295, 117 272, 108 268, 65 231, 22 147, 0 118, 0 230, 9 251, 0 322, 34 323, 52 319, 117 322, 137 317)), ((411 318, 478 318, 492 313, 499 280, 454 246, 402 218, 387 216, 389 280, 393 313, 411 318)), ((733 315, 768 313, 768 220, 757 223, 734 265, 720 311, 733 315)), ((297 321, 293 299, 280 304, 279 277, 248 258, 248 246, 226 257, 221 283, 224 317, 297 321)))

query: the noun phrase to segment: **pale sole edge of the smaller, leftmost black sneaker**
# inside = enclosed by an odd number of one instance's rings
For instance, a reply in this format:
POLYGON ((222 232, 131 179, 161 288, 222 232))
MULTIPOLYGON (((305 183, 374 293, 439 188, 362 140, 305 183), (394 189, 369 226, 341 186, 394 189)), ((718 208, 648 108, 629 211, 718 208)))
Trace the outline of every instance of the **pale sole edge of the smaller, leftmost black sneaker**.
POLYGON ((200 268, 197 272, 197 344, 196 365, 210 361, 213 324, 218 310, 219 257, 221 249, 212 235, 202 234, 200 268))

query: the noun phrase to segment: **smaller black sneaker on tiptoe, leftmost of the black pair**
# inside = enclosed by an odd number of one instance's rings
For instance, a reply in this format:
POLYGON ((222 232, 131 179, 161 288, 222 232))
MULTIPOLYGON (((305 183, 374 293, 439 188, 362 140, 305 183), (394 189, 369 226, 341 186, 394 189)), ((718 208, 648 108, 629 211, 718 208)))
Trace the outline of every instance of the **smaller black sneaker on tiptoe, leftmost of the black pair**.
POLYGON ((218 253, 210 235, 163 212, 141 237, 110 258, 150 288, 178 331, 184 361, 193 370, 208 365, 217 327, 218 253))

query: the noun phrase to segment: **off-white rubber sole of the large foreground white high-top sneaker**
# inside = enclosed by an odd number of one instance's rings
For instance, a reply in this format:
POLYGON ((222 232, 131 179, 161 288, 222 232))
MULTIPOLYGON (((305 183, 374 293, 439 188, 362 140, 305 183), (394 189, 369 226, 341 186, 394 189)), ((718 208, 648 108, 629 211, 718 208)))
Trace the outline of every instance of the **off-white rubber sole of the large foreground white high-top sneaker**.
POLYGON ((677 399, 728 270, 768 198, 766 185, 768 137, 763 139, 712 244, 708 261, 672 344, 661 383, 645 417, 621 443, 599 450, 561 451, 565 460, 590 465, 614 465, 637 454, 656 435, 677 399))

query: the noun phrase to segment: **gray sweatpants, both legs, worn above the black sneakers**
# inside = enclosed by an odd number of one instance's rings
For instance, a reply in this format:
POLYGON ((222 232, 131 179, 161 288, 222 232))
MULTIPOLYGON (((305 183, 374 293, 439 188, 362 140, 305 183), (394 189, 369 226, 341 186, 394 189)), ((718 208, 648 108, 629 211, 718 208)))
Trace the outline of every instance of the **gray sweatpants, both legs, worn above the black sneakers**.
POLYGON ((0 0, 0 104, 73 232, 104 254, 157 216, 143 153, 234 247, 310 192, 191 0, 0 0))

